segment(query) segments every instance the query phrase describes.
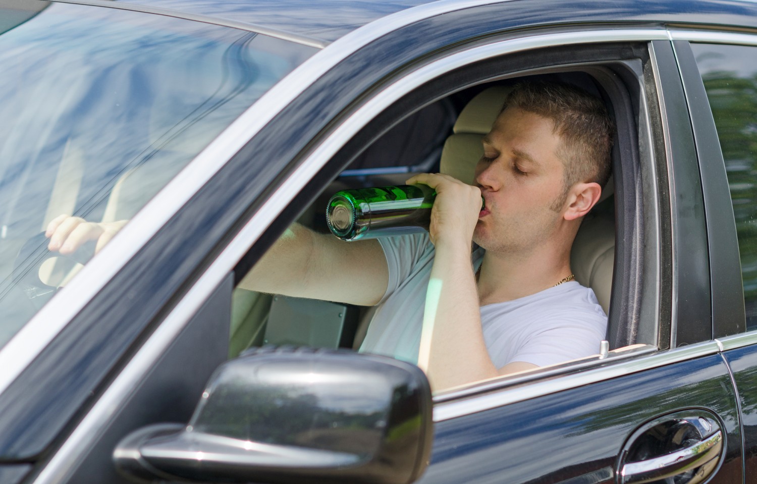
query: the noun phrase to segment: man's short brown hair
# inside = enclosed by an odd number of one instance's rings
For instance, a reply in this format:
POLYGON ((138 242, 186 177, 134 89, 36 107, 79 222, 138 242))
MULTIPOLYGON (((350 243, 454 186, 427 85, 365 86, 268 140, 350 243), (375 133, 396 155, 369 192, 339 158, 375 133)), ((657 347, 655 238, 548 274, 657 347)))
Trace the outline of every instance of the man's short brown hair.
POLYGON ((515 107, 546 117, 562 138, 558 157, 565 164, 565 194, 574 183, 604 187, 610 176, 615 123, 603 101, 583 89, 553 82, 516 84, 502 108, 515 107))

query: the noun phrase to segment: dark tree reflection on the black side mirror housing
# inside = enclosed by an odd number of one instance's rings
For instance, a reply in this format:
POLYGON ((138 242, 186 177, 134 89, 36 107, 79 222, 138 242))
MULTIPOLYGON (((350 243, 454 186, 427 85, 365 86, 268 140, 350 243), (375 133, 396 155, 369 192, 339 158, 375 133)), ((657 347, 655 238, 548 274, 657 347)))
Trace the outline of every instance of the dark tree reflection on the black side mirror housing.
POLYGON ((302 387, 223 386, 211 395, 194 429, 235 439, 372 454, 384 433, 382 412, 350 413, 319 405, 302 387))

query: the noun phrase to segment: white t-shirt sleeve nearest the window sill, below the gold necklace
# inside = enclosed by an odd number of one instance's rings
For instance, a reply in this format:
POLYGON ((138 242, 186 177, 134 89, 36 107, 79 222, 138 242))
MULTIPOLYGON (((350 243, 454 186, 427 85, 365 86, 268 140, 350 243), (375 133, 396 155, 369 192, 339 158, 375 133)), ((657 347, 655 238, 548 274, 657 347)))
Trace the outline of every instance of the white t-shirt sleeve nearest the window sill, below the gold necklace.
MULTIPOLYGON (((571 314, 571 313, 566 313, 571 314)), ((607 318, 590 312, 541 320, 507 363, 522 361, 546 367, 600 352, 607 318)))

